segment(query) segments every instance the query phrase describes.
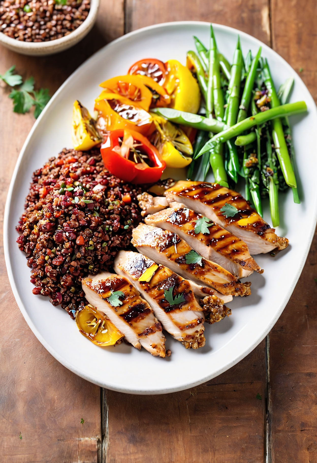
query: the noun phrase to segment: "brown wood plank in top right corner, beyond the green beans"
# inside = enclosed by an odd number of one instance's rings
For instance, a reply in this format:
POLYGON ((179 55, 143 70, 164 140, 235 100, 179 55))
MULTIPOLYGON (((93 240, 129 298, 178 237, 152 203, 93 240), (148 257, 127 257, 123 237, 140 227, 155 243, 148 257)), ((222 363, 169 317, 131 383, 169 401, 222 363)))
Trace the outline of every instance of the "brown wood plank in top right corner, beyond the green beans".
POLYGON ((317 101, 315 0, 272 0, 272 42, 300 75, 317 101))

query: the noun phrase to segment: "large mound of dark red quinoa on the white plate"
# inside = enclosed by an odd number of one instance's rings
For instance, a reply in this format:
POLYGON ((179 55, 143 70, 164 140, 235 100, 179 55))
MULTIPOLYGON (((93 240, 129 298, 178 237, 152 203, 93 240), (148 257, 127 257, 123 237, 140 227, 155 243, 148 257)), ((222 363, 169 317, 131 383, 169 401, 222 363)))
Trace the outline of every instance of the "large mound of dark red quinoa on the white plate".
POLYGON ((118 250, 130 245, 142 220, 141 191, 109 174, 98 149, 64 149, 36 170, 16 227, 32 268, 33 294, 49 296, 74 318, 88 303, 82 278, 108 270, 118 250))

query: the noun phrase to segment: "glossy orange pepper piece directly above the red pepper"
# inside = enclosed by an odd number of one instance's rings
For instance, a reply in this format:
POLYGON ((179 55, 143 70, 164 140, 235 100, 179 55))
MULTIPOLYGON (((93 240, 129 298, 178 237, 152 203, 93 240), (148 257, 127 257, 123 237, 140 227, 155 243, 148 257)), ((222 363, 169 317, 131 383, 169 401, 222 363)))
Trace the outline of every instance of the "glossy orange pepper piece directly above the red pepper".
POLYGON ((99 113, 98 124, 102 126, 102 130, 127 129, 147 135, 152 125, 152 116, 149 113, 119 94, 101 92, 95 100, 95 110, 99 113), (104 121, 100 121, 100 118, 104 121))

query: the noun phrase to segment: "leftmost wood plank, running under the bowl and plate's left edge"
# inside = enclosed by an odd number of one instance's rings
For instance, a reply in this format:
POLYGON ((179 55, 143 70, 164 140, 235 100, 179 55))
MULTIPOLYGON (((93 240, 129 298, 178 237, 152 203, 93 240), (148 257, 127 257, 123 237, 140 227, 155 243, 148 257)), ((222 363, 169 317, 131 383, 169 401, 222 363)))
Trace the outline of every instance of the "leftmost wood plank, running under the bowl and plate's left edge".
MULTIPOLYGON (((42 58, 18 55, 0 47, 0 73, 15 64, 19 74, 33 75, 36 88, 47 87, 52 95, 86 58, 122 35, 123 28, 123 0, 102 0, 97 23, 82 42, 61 54, 42 58)), ((12 110, 8 89, 1 88, 1 224, 14 165, 35 120, 31 113, 15 114, 12 110)), ((21 212, 22 209, 23 205, 21 212)), ((97 463, 101 461, 100 388, 58 363, 26 325, 6 274, 2 228, 1 225, 1 462, 97 463)))

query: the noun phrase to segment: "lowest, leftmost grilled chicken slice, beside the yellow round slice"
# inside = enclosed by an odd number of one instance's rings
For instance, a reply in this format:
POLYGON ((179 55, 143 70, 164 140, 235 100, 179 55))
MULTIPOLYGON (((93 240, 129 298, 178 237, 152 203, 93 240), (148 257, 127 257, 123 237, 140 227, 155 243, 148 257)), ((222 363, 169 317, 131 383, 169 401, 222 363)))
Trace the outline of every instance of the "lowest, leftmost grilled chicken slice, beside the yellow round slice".
POLYGON ((165 337, 152 308, 125 277, 102 272, 82 280, 82 289, 91 305, 105 313, 137 349, 143 346, 152 355, 165 357, 165 337))

